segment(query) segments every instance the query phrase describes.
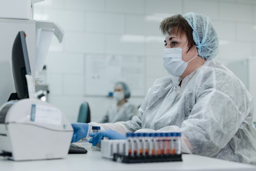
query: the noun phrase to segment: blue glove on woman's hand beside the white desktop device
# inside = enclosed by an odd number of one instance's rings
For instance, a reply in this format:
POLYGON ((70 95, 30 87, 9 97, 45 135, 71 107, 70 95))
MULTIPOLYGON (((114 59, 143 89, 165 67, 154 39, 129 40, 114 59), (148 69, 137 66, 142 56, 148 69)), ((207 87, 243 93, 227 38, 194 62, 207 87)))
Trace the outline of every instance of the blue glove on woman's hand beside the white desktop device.
POLYGON ((88 123, 71 123, 74 134, 71 142, 77 142, 87 136, 89 124, 88 123))

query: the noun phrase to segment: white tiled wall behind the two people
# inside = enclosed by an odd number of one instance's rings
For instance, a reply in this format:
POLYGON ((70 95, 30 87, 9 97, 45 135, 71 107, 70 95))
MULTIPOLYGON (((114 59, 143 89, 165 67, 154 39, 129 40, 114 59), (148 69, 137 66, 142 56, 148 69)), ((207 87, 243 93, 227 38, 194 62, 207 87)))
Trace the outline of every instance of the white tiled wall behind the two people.
MULTIPOLYGON (((92 120, 101 119, 112 99, 83 96, 86 55, 145 57, 144 92, 147 92, 156 78, 167 74, 162 67, 164 37, 159 23, 166 16, 191 11, 209 16, 215 26, 220 38, 217 60, 228 64, 250 58, 255 63, 254 0, 46 0, 38 3, 35 18, 52 20, 65 30, 62 44, 53 38, 46 62, 50 102, 74 122, 80 103, 86 100, 91 106, 92 120), (136 40, 127 41, 127 37, 136 40)), ((249 69, 252 78, 252 65, 249 69)), ((256 82, 250 80, 249 84, 256 98, 253 89, 256 82)), ((139 105, 143 98, 130 100, 139 105)))

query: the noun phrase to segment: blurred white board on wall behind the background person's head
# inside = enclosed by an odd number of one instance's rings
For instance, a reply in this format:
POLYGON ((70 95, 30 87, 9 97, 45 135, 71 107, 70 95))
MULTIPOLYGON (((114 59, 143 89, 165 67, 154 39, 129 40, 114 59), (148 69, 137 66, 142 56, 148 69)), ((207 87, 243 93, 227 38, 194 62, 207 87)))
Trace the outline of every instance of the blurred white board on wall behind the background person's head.
POLYGON ((108 95, 117 81, 125 81, 132 96, 144 95, 144 57, 142 56, 86 56, 86 95, 108 95))

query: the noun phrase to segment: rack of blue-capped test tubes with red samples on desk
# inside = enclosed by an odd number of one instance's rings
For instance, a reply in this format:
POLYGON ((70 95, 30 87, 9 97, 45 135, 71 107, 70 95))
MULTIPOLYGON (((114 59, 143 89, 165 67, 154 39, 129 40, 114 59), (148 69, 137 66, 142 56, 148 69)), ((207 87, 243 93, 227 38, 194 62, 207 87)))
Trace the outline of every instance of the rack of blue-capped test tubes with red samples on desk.
POLYGON ((127 133, 124 140, 102 140, 101 154, 123 163, 182 161, 180 133, 127 133))

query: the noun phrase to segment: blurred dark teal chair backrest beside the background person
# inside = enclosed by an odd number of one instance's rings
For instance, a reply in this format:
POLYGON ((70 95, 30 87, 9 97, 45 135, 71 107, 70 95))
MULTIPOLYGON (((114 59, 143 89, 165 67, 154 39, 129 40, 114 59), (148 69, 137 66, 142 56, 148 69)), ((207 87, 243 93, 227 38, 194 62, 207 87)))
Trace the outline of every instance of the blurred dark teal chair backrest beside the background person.
POLYGON ((91 112, 88 102, 81 103, 78 113, 77 122, 89 123, 91 122, 91 112))

